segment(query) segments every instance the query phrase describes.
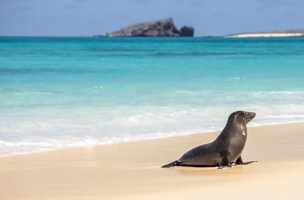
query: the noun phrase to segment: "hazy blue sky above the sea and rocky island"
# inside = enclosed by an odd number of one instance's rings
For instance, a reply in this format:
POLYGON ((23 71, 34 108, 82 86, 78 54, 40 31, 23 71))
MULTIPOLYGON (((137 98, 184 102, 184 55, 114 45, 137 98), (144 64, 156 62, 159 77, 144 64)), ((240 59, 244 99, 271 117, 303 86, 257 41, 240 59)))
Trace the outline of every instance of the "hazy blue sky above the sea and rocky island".
POLYGON ((304 0, 0 0, 0 35, 92 36, 168 17, 194 36, 304 29, 304 0))

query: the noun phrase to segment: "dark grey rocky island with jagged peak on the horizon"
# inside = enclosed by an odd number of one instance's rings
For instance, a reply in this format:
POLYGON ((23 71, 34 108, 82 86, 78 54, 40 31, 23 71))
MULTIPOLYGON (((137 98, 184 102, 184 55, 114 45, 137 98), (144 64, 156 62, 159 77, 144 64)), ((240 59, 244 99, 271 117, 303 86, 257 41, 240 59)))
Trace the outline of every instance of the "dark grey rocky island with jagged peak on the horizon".
POLYGON ((178 30, 170 17, 164 20, 133 24, 119 31, 106 33, 105 35, 95 35, 94 37, 193 37, 193 35, 193 27, 183 26, 178 30))

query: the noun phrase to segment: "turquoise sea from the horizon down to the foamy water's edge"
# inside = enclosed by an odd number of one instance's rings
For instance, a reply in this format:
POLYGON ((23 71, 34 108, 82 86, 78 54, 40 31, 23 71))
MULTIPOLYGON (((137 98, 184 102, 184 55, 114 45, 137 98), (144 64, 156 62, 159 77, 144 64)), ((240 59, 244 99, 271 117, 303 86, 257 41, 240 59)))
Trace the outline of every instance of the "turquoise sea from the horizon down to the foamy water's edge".
POLYGON ((304 121, 304 38, 0 38, 0 155, 304 121))

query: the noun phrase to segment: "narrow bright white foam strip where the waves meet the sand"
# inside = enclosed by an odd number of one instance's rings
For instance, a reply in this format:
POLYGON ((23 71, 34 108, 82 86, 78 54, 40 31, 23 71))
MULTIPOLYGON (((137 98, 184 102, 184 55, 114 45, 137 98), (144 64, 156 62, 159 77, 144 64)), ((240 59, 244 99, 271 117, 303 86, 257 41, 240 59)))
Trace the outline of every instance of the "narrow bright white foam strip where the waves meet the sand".
MULTIPOLYGON (((277 118, 277 116, 268 116, 270 118, 277 118)), ((288 117, 288 116, 287 116, 288 117)), ((283 119, 283 118, 281 118, 283 119)), ((304 122, 304 118, 299 120, 293 120, 290 118, 289 121, 282 120, 278 121, 266 121, 261 122, 250 122, 251 124, 248 127, 255 127, 255 126, 263 126, 263 125, 276 125, 282 123, 294 123, 294 122, 304 122)), ((157 139, 157 138, 165 138, 165 137, 172 137, 172 136, 179 136, 179 135, 189 135, 193 133, 200 133, 200 132, 212 132, 212 131, 220 131, 224 126, 221 128, 218 127, 211 127, 210 129, 189 129, 189 131, 169 131, 169 132, 157 132, 157 133, 150 133, 148 135, 137 135, 137 136, 123 136, 117 137, 113 136, 112 138, 107 139, 97 139, 98 137, 94 138, 92 136, 86 136, 84 138, 69 138, 67 140, 62 140, 58 138, 58 140, 50 139, 49 141, 45 142, 8 142, 0 140, 0 157, 3 156, 10 156, 16 154, 28 154, 28 153, 35 153, 35 152, 45 152, 59 148, 65 147, 80 147, 80 146, 89 146, 89 145, 103 145, 103 144, 113 144, 118 142, 131 142, 131 141, 140 141, 140 140, 150 140, 150 139, 157 139)), ((244 133, 242 132, 244 135, 244 133)))

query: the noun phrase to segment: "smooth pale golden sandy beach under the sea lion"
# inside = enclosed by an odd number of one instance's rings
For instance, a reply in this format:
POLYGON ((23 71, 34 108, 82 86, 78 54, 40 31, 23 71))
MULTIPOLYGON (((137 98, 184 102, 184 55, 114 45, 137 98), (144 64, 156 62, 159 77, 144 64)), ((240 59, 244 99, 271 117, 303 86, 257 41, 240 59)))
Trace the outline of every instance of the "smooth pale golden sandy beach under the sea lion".
POLYGON ((160 168, 219 131, 0 158, 0 199, 301 199, 304 123, 249 127, 244 166, 160 168))

